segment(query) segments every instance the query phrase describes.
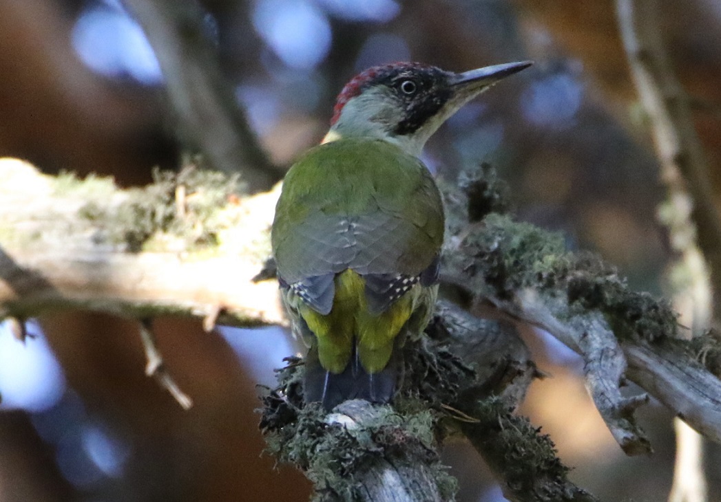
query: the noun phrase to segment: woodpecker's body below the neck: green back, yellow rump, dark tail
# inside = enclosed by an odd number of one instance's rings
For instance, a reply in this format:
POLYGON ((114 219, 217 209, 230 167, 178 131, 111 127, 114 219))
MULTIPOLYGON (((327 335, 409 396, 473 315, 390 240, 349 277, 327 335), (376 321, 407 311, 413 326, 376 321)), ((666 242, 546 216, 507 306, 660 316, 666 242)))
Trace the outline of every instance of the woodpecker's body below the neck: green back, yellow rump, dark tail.
POLYGON ((423 331, 435 302, 434 277, 424 278, 436 270, 443 227, 428 169, 385 141, 319 145, 288 171, 272 242, 293 331, 325 370, 306 367, 306 398, 390 398, 397 336, 404 326, 423 331))

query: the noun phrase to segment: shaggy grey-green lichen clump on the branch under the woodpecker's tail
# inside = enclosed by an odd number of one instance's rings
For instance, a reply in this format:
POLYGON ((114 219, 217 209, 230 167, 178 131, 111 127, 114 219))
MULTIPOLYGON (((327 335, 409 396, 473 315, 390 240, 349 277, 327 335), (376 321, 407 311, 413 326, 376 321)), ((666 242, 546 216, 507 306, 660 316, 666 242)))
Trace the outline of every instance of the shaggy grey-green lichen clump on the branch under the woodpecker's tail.
POLYGON ((270 453, 300 468, 314 484, 317 500, 358 499, 358 480, 381 459, 396 466, 423 462, 444 500, 453 498, 456 482, 436 453, 438 413, 428 406, 401 412, 382 405, 362 425, 334 423, 317 403, 303 403, 302 368, 298 359, 290 359, 278 372, 279 386, 263 398, 260 427, 270 453))

